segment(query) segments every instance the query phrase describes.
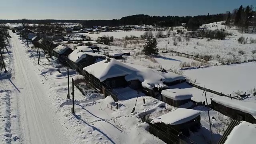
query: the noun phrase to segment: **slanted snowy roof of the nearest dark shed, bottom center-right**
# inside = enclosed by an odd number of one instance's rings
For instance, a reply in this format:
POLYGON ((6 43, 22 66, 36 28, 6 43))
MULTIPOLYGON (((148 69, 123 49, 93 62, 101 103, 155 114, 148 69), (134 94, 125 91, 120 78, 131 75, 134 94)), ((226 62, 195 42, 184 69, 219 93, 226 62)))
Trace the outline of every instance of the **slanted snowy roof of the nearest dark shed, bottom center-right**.
POLYGON ((165 124, 177 125, 177 124, 183 124, 185 122, 188 122, 199 115, 200 115, 200 111, 198 110, 178 108, 177 110, 168 112, 167 114, 154 118, 151 121, 151 123, 154 124, 154 123, 163 122, 165 124))

